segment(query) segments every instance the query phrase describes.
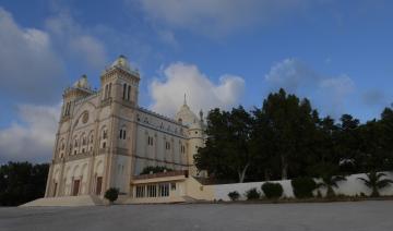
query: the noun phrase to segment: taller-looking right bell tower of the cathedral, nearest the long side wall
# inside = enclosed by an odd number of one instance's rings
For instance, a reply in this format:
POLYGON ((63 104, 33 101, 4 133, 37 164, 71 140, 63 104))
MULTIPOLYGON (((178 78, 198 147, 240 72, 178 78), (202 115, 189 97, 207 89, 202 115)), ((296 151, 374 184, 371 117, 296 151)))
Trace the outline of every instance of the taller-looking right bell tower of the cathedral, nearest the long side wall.
POLYGON ((108 155, 104 189, 130 192, 131 161, 135 148, 135 110, 140 74, 124 56, 104 70, 100 76, 100 110, 107 114, 108 155))

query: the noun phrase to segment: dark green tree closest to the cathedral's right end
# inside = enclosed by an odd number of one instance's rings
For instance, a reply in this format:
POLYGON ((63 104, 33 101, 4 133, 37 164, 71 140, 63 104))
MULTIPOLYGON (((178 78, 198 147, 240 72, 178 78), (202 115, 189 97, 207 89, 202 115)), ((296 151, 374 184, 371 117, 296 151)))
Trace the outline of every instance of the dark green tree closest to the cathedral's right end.
POLYGON ((238 182, 243 182, 254 160, 254 153, 250 150, 251 124, 250 113, 241 106, 230 112, 210 111, 207 141, 194 156, 196 167, 218 178, 237 175, 238 182))

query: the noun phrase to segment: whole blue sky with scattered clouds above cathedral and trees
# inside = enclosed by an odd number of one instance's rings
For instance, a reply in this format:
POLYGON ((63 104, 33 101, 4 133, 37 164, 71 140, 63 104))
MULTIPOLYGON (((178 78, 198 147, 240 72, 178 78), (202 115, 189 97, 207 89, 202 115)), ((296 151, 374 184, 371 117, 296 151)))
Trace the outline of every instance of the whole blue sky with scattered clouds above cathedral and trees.
POLYGON ((389 0, 0 0, 0 163, 48 162, 62 90, 120 54, 139 105, 171 117, 261 107, 283 87, 322 117, 393 102, 389 0))

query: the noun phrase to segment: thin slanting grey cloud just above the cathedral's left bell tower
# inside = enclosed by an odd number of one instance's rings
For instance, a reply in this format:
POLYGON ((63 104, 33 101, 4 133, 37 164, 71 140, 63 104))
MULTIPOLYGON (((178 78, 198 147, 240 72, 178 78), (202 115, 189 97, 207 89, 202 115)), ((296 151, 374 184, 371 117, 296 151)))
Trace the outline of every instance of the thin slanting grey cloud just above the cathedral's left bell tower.
POLYGON ((46 21, 48 32, 56 38, 61 52, 72 59, 86 62, 92 69, 103 69, 107 63, 104 44, 90 35, 88 29, 78 24, 67 12, 60 12, 46 21))

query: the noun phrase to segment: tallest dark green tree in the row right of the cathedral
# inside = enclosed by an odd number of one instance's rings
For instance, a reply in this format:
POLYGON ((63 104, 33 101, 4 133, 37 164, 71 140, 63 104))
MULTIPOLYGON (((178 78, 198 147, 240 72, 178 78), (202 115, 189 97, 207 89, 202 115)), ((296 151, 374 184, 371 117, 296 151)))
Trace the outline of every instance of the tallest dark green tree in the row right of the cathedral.
POLYGON ((305 167, 313 155, 311 147, 318 118, 310 101, 306 98, 300 100, 297 96, 287 95, 284 89, 279 89, 278 93, 267 96, 260 114, 264 130, 270 134, 264 144, 273 145, 267 153, 271 159, 278 159, 281 178, 305 174, 305 167))

